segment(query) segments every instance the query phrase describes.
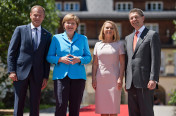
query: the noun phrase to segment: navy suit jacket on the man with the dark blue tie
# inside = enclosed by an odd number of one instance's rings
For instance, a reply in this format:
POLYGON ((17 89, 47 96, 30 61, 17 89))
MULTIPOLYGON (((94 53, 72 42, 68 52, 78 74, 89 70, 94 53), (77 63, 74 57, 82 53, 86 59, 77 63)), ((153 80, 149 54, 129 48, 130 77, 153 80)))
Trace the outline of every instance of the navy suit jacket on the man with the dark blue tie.
POLYGON ((31 24, 18 26, 8 49, 8 72, 16 72, 18 80, 24 80, 32 68, 35 81, 41 82, 43 78, 48 78, 50 64, 46 56, 50 42, 51 34, 42 28, 40 44, 34 51, 31 24))

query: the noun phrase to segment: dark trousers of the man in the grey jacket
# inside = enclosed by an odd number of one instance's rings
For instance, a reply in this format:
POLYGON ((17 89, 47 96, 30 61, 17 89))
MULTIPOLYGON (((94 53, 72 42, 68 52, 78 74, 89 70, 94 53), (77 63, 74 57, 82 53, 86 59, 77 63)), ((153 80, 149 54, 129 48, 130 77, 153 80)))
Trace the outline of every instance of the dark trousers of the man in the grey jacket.
POLYGON ((154 90, 132 85, 128 90, 129 116, 154 116, 153 100, 154 90))

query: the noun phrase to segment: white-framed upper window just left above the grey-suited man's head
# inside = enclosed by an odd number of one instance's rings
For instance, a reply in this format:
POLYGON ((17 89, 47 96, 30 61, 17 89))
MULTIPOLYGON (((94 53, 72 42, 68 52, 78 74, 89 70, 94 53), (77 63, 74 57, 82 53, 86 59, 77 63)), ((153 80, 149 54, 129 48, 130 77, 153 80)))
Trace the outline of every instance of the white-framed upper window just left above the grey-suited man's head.
POLYGON ((116 2, 116 11, 130 11, 133 8, 132 2, 116 2))

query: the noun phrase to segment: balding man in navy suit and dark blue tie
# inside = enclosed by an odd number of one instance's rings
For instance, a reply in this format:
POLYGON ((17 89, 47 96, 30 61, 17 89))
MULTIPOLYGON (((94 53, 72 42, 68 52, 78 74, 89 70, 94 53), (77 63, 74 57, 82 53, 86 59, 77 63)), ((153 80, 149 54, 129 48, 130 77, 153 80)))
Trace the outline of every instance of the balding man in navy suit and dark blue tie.
POLYGON ((45 9, 33 6, 31 23, 18 26, 8 49, 8 72, 13 80, 14 116, 23 116, 26 92, 30 93, 30 116, 39 116, 41 89, 47 85, 50 64, 46 61, 51 34, 41 27, 45 9))

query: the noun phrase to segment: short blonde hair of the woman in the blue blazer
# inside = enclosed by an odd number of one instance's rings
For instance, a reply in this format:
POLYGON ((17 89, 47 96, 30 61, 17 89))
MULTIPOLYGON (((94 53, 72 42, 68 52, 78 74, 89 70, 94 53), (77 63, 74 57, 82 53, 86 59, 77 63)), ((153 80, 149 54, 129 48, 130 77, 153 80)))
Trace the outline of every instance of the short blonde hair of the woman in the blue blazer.
POLYGON ((79 21, 79 18, 78 18, 76 15, 72 14, 72 13, 66 14, 66 15, 64 16, 64 18, 63 18, 63 20, 62 20, 62 26, 64 26, 64 23, 65 23, 66 21, 69 21, 69 20, 72 20, 72 19, 76 22, 77 27, 78 27, 79 22, 80 22, 80 21, 79 21))

